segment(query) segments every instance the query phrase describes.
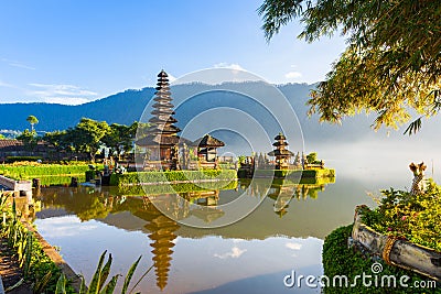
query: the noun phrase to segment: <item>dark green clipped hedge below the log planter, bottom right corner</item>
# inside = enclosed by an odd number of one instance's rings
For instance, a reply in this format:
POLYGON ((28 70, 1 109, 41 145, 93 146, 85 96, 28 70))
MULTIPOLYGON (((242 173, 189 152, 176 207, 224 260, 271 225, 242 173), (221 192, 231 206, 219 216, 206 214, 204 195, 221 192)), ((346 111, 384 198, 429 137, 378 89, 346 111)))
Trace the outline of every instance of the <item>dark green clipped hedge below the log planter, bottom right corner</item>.
POLYGON ((375 261, 368 257, 363 255, 361 252, 356 251, 354 248, 348 248, 347 238, 352 232, 352 225, 346 227, 341 227, 332 231, 324 240, 323 244, 323 269, 324 275, 330 277, 331 285, 332 279, 336 275, 346 275, 348 284, 351 285, 355 280, 356 275, 372 275, 373 279, 366 280, 366 282, 372 281, 373 285, 367 287, 363 285, 362 279, 357 280, 356 286, 348 287, 324 287, 325 294, 340 294, 340 293, 441 293, 441 288, 416 288, 416 287, 401 287, 399 285, 399 279, 402 275, 408 275, 410 279, 406 283, 412 285, 413 281, 428 281, 428 277, 421 276, 417 273, 401 270, 394 265, 388 265, 387 263, 378 261, 383 271, 378 274, 378 280, 385 275, 395 275, 397 279, 397 287, 381 287, 380 282, 378 286, 374 286, 374 274, 372 272, 372 266, 375 261))

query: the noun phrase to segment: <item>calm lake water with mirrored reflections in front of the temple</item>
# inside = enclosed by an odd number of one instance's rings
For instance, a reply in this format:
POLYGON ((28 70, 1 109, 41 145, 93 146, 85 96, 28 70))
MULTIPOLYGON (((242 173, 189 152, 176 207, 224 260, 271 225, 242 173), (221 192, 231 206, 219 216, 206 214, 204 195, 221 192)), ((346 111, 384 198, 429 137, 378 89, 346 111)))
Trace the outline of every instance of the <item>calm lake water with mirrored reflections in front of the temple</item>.
MULTIPOLYGON (((292 270, 322 274, 323 239, 353 221, 356 205, 375 206, 367 193, 378 196, 380 188, 406 188, 411 183, 406 168, 385 176, 373 168, 351 167, 346 173, 336 170, 335 183, 283 190, 261 189, 259 182, 239 182, 237 190, 220 190, 206 202, 216 203, 218 197, 222 204, 241 193, 250 203, 262 202, 246 218, 216 229, 182 226, 143 197, 89 187, 43 189, 35 196, 42 210, 34 222, 86 281, 107 250, 114 258, 112 274, 125 274, 142 255, 131 285, 153 265, 137 286, 142 293, 320 293, 320 288, 304 285, 286 288, 283 276, 292 270), (281 211, 277 195, 283 204, 289 202, 281 211)), ((166 196, 162 197, 166 202, 166 196)), ((223 211, 209 207, 180 217, 209 225, 219 221, 223 211)))

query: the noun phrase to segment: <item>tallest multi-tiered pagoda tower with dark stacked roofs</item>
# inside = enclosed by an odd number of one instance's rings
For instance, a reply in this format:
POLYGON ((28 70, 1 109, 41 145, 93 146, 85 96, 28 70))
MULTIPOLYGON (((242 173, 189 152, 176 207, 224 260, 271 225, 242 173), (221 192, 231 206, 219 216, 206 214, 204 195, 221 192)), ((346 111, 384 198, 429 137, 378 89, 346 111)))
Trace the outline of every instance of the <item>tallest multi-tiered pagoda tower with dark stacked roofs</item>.
POLYGON ((148 130, 148 135, 137 141, 137 145, 146 146, 150 150, 151 161, 169 162, 169 168, 175 170, 178 162, 176 145, 180 137, 176 135, 181 130, 174 126, 178 122, 172 105, 173 98, 170 92, 169 76, 162 69, 158 74, 157 91, 154 94, 153 110, 150 112, 152 118, 149 122, 152 127, 148 130))

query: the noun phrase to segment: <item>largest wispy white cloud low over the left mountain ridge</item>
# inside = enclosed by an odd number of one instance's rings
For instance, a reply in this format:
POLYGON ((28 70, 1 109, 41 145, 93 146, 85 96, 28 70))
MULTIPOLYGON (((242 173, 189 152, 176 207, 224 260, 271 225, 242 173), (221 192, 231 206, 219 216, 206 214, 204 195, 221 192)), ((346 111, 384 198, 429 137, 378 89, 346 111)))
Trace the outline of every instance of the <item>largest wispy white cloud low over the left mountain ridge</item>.
POLYGON ((39 97, 49 104, 80 105, 88 102, 90 98, 98 95, 74 85, 34 83, 29 84, 29 86, 35 88, 29 90, 29 95, 39 97))

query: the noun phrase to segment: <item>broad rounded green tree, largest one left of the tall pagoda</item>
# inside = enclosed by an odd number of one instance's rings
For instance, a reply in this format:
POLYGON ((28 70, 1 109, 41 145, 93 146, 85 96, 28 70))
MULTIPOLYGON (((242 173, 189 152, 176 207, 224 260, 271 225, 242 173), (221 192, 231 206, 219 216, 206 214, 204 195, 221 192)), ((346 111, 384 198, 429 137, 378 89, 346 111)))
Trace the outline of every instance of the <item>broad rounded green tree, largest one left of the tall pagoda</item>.
POLYGON ((103 144, 101 139, 110 131, 106 121, 96 121, 83 118, 79 123, 67 131, 72 144, 76 151, 89 154, 90 161, 95 162, 95 155, 103 144))

